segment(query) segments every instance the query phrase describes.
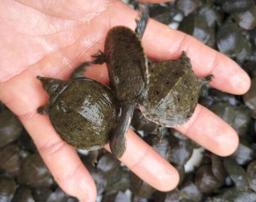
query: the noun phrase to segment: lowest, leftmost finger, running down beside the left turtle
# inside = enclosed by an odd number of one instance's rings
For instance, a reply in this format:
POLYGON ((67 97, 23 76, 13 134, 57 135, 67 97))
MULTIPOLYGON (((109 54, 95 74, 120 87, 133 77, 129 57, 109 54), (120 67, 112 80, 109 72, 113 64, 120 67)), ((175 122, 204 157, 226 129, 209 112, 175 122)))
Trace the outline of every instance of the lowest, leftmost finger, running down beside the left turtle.
POLYGON ((35 111, 29 118, 22 116, 20 119, 61 189, 81 202, 95 202, 97 191, 94 180, 76 150, 56 134, 49 117, 38 115, 35 111))

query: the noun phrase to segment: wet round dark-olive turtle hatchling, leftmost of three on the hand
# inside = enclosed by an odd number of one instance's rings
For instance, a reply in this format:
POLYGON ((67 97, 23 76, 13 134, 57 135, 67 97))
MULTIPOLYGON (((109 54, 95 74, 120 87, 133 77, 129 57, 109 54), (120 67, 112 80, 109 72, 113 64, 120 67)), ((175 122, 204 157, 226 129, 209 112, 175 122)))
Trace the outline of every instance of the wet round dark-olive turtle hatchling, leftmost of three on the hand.
POLYGON ((50 96, 38 112, 49 114, 53 127, 69 145, 95 150, 108 143, 120 107, 110 88, 83 77, 88 65, 77 67, 68 81, 37 76, 50 96))

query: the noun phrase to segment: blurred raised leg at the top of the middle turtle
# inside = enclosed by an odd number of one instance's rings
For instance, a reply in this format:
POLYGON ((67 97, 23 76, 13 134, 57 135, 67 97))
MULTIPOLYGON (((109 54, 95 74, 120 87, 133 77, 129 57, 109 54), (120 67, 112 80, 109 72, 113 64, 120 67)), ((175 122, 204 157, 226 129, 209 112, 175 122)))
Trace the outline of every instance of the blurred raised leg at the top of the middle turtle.
POLYGON ((142 36, 144 34, 144 31, 146 29, 147 23, 149 18, 149 10, 147 4, 140 3, 139 4, 139 15, 135 19, 135 22, 137 24, 137 27, 135 28, 135 32, 139 36, 140 39, 142 39, 142 36))

